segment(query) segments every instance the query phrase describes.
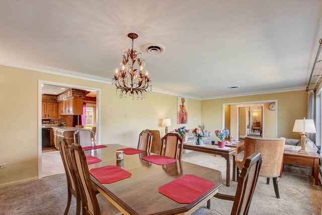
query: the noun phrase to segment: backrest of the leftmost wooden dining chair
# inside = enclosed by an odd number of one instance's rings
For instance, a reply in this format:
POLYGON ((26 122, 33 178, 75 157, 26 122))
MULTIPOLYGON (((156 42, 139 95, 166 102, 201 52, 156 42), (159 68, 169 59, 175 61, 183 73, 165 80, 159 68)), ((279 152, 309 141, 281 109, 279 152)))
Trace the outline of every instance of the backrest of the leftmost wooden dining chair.
POLYGON ((78 191, 78 184, 77 184, 75 170, 71 161, 69 146, 67 144, 66 139, 63 137, 58 137, 57 141, 59 145, 61 160, 64 165, 64 169, 66 173, 67 186, 68 188, 71 189, 71 192, 73 193, 73 195, 76 196, 78 191))

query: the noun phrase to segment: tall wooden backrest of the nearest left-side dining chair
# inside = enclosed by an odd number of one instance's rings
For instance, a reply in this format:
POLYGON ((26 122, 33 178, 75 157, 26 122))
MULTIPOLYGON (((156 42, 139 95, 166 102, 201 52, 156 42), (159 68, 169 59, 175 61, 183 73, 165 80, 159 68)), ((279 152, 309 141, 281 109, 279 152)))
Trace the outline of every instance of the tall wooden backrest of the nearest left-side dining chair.
POLYGON ((101 214, 87 166, 86 156, 81 145, 71 144, 71 158, 75 167, 79 190, 81 190, 83 212, 93 215, 101 214))

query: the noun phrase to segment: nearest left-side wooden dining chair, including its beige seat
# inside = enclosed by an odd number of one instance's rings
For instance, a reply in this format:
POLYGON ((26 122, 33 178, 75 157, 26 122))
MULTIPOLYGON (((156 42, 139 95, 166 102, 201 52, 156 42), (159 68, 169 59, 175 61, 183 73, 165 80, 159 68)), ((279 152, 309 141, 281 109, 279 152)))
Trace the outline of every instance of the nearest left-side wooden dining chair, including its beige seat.
POLYGON ((86 156, 81 145, 71 144, 71 159, 74 165, 79 190, 82 199, 82 214, 122 214, 102 194, 95 194, 94 186, 90 177, 86 156))

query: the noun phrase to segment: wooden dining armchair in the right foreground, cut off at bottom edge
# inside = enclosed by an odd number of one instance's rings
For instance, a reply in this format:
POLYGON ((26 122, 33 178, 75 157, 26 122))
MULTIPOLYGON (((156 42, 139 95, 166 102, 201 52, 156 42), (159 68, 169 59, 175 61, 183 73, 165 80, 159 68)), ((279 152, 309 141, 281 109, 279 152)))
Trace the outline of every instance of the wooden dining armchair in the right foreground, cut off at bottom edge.
MULTIPOLYGON (((245 159, 245 165, 241 169, 240 176, 238 178, 237 189, 235 195, 225 195, 216 193, 215 198, 233 201, 230 214, 248 214, 249 207, 253 198, 254 190, 257 184, 259 172, 262 166, 262 156, 260 153, 253 153, 247 159, 245 159)), ((220 214, 213 208, 210 209, 210 199, 207 202, 207 206, 199 207, 195 210, 193 215, 197 214, 220 214)))

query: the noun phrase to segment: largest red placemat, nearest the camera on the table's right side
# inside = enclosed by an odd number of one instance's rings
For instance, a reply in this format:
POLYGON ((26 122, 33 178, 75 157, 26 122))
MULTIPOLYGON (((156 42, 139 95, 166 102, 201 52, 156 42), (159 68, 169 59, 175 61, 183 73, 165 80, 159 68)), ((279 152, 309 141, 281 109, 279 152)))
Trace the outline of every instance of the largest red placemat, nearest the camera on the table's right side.
POLYGON ((189 204, 214 187, 214 183, 195 175, 184 175, 159 187, 159 193, 178 203, 189 204))

